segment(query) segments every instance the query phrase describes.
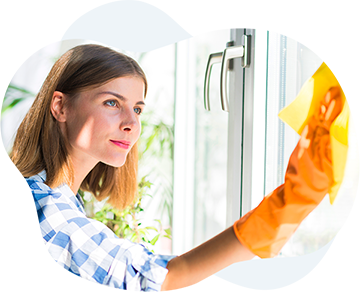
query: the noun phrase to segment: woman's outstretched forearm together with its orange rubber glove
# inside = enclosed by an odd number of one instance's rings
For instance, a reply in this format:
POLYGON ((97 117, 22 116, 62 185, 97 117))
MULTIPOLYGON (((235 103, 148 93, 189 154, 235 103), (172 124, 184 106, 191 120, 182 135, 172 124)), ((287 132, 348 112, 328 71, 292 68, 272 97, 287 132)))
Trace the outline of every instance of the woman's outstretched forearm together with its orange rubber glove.
POLYGON ((249 260, 254 254, 278 254, 330 190, 333 172, 329 130, 342 106, 340 90, 331 88, 290 157, 285 183, 233 227, 171 260, 162 291, 212 291, 212 275, 221 269, 249 260))

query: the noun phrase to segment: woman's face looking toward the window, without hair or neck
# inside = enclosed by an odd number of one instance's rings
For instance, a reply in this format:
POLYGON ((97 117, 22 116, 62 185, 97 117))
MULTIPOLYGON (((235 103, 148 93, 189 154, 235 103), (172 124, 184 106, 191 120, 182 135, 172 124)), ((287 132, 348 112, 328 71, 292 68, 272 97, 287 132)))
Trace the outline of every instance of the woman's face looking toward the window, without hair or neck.
POLYGON ((120 77, 79 94, 66 109, 66 134, 74 163, 119 167, 140 136, 144 82, 120 77))

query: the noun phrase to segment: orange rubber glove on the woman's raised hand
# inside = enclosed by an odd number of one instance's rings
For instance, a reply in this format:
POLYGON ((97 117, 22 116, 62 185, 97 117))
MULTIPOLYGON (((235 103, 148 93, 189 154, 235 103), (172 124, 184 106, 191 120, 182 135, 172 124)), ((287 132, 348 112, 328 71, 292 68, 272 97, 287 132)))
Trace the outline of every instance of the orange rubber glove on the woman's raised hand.
POLYGON ((277 255, 333 183, 330 125, 341 112, 338 87, 331 88, 304 128, 290 156, 285 183, 234 224, 239 241, 261 258, 277 255))

